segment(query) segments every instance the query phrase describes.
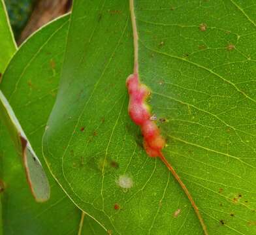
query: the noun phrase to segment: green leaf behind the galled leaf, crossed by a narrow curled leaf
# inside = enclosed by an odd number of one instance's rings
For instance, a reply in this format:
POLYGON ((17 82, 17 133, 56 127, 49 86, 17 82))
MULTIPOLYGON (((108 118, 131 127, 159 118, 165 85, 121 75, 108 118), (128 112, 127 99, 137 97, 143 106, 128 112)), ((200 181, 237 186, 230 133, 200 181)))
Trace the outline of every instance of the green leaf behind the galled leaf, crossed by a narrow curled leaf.
MULTIPOLYGON (((42 134, 56 99, 68 21, 69 16, 59 18, 29 38, 10 61, 1 84, 42 163, 42 134)), ((88 216, 81 221, 82 212, 63 193, 45 164, 51 197, 44 203, 35 202, 25 180, 21 157, 3 127, 0 139, 5 185, 3 234, 106 234, 88 216)))

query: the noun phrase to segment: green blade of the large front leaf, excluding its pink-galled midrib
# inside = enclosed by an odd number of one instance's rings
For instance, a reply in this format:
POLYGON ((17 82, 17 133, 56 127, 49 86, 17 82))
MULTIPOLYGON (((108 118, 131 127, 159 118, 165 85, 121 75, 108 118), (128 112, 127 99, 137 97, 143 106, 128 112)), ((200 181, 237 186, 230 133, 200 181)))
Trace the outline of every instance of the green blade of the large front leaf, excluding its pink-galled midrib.
MULTIPOLYGON (((252 1, 135 1, 140 80, 163 150, 208 234, 256 232, 252 1)), ((74 1, 61 82, 44 134, 48 166, 112 234, 203 234, 180 185, 144 153, 127 114, 128 1, 74 1)))

